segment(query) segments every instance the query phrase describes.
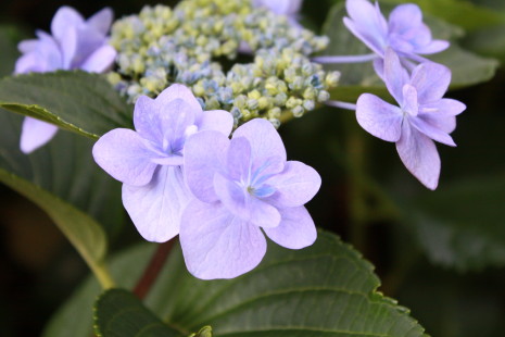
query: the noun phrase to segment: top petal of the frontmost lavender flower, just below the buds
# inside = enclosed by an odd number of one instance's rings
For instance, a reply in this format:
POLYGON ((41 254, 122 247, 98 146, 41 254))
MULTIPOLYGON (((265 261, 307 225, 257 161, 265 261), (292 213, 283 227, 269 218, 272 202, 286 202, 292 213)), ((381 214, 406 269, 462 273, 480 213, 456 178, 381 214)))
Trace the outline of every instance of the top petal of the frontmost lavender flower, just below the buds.
POLYGON ((286 148, 279 134, 270 122, 263 118, 254 118, 239 126, 233 133, 233 138, 245 137, 251 145, 253 162, 270 157, 280 157, 286 161, 286 148))

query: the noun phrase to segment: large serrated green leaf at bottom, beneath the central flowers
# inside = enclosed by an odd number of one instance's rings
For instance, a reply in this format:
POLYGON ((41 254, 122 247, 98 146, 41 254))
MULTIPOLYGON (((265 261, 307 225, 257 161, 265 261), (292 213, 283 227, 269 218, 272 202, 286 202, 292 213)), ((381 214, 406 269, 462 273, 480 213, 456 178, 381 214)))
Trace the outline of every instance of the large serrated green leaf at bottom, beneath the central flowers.
MULTIPOLYGON (((146 264, 149 249, 132 250, 131 259, 128 254, 123 257, 119 279, 131 285, 129 278, 146 264)), ((258 267, 231 280, 192 277, 177 247, 146 304, 186 335, 211 325, 214 336, 233 337, 424 336, 408 310, 383 297, 378 286, 373 266, 359 253, 334 235, 319 233, 313 247, 300 251, 269 245, 258 267)), ((62 317, 72 321, 72 315, 86 317, 91 326, 86 301, 97 295, 92 291, 89 284, 80 289, 46 336, 64 336, 59 324, 67 328, 62 317)), ((76 330, 73 336, 87 334, 89 330, 76 330)))

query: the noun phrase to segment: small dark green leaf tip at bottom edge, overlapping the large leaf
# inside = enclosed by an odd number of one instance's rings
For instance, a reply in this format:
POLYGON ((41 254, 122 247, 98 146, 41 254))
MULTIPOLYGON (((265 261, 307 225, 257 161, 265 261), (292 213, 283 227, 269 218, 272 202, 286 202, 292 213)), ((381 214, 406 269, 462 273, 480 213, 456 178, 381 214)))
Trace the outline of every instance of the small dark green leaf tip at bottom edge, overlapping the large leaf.
POLYGON ((131 292, 123 289, 105 291, 94 305, 94 328, 100 337, 177 337, 131 292))

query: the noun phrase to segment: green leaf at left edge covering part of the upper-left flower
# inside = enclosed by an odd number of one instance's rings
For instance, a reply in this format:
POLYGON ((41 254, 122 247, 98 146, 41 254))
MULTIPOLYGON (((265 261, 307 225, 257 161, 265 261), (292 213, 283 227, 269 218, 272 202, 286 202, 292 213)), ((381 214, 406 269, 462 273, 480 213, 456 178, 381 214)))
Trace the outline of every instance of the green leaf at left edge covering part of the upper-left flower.
POLYGON ((98 139, 131 128, 131 107, 98 74, 27 74, 0 80, 0 107, 98 139))

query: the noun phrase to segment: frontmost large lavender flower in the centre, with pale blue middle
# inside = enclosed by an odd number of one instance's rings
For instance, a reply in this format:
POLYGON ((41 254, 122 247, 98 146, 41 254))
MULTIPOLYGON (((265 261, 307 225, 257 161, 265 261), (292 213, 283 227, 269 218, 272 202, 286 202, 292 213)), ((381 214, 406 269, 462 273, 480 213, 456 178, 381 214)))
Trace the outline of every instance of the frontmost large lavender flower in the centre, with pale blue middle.
POLYGON ((195 199, 182 212, 179 238, 194 276, 232 278, 251 271, 266 252, 264 234, 290 249, 315 241, 304 204, 318 191, 320 177, 301 162, 287 161, 269 122, 252 120, 231 140, 217 132, 191 136, 185 174, 195 199))

